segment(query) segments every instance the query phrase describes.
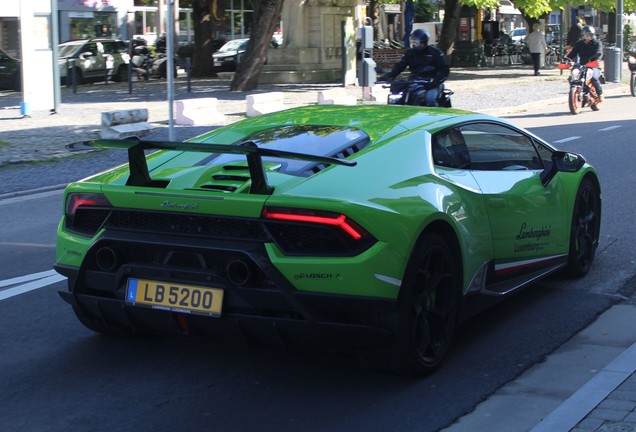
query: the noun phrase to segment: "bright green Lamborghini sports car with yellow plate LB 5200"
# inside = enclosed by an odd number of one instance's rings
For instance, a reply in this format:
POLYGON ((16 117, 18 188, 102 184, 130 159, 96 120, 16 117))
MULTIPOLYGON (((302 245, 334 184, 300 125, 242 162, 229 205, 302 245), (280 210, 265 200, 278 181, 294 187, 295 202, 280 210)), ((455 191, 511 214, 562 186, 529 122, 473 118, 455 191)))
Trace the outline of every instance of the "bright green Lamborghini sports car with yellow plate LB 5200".
POLYGON ((316 105, 93 146, 129 163, 68 185, 55 268, 105 334, 309 342, 427 373, 470 299, 585 275, 599 239, 583 157, 467 111, 316 105))

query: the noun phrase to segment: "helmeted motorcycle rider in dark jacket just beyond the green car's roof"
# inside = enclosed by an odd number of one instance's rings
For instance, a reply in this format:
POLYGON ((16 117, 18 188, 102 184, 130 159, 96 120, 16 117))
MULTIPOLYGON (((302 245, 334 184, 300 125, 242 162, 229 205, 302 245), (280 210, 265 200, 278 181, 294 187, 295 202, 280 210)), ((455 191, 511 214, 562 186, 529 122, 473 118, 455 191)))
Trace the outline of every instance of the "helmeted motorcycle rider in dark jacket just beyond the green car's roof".
POLYGON ((402 58, 393 66, 391 72, 380 78, 380 81, 392 81, 404 69, 409 68, 409 79, 432 79, 430 88, 423 95, 425 103, 416 105, 438 106, 437 98, 442 91, 441 84, 448 78, 450 66, 444 53, 428 44, 428 32, 417 29, 411 33, 411 48, 406 50, 402 58))

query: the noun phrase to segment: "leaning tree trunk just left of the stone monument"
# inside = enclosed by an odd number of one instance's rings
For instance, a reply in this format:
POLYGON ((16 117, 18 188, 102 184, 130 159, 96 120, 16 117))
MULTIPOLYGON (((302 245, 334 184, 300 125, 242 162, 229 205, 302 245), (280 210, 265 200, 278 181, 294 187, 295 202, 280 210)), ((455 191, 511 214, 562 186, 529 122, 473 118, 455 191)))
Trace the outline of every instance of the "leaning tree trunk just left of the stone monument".
POLYGON ((283 10, 283 0, 252 0, 252 6, 254 22, 250 42, 234 73, 231 91, 249 91, 258 87, 258 78, 267 61, 272 35, 283 10))

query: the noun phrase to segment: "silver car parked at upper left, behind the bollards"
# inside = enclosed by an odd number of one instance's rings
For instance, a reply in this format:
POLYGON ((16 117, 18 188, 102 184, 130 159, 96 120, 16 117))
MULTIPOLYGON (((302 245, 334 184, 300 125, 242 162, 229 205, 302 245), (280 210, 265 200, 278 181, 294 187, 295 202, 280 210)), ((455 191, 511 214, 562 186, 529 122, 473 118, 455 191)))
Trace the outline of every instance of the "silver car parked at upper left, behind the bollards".
MULTIPOLYGON (((71 40, 59 45, 60 77, 72 77, 76 83, 125 81, 128 79, 128 46, 124 41, 108 38, 71 40)), ((70 82, 70 81, 68 81, 70 82)))

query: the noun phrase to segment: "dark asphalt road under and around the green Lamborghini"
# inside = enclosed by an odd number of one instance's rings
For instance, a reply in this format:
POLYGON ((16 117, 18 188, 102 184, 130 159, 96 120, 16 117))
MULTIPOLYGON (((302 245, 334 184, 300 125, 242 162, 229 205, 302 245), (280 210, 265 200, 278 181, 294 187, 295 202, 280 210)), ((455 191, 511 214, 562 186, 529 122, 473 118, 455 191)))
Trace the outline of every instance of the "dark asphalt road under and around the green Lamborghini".
MULTIPOLYGON (((636 183, 633 103, 622 96, 576 117, 565 114, 565 105, 511 116, 598 167, 604 213, 597 260, 584 279, 550 278, 462 325, 434 375, 372 374, 346 353, 196 337, 106 338, 77 322, 56 294, 64 282, 52 281, 0 300, 2 429, 439 430, 633 293, 635 204, 625 199, 636 183)), ((41 165, 11 167, 2 170, 0 184, 7 172, 34 185, 65 183, 114 157, 44 164, 46 176, 41 165)), ((0 294, 2 281, 51 269, 60 212, 59 192, 0 201, 0 294)), ((11 287, 37 285, 41 277, 11 287)))

